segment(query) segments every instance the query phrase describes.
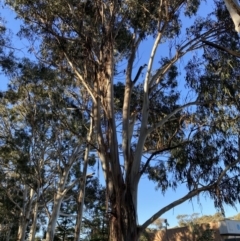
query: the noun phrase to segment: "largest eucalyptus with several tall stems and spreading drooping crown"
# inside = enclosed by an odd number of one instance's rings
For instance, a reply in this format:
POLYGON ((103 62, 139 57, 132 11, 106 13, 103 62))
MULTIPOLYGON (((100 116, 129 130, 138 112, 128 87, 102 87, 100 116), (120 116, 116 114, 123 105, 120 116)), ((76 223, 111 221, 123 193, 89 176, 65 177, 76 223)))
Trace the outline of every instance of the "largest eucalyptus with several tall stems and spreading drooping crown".
POLYGON ((138 240, 164 212, 200 193, 208 193, 220 208, 239 200, 238 95, 234 99, 230 88, 222 91, 228 88, 226 79, 237 81, 237 70, 231 71, 232 56, 227 56, 216 59, 217 67, 226 69, 211 73, 214 66, 206 47, 225 37, 235 41, 232 51, 239 47, 222 1, 215 1, 211 14, 186 28, 182 22, 198 13, 198 0, 6 2, 24 20, 20 34, 33 41, 33 50, 40 50, 35 51, 37 57, 52 69, 71 74, 73 84, 91 98, 111 241, 138 240), (137 53, 149 38, 153 44, 148 63, 134 73, 137 53), (156 60, 161 46, 168 46, 170 54, 156 60), (203 61, 198 49, 204 51, 203 61), (193 54, 184 80, 177 63, 189 52, 193 54), (114 78, 121 60, 126 68, 119 94, 114 78), (187 95, 179 91, 184 84, 187 95), (139 226, 138 184, 145 174, 162 192, 181 184, 188 192, 139 226))

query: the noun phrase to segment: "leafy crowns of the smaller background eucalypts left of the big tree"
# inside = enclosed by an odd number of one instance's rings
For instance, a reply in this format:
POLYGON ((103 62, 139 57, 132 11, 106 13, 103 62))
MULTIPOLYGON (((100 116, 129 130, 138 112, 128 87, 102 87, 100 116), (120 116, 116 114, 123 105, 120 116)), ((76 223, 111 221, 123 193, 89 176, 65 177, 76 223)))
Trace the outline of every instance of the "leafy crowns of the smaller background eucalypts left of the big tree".
MULTIPOLYGON (((81 147, 89 127, 86 119, 89 113, 82 111, 78 99, 69 94, 71 85, 68 85, 69 92, 66 94, 68 82, 66 85, 58 83, 59 72, 27 59, 16 66, 14 78, 0 100, 0 188, 7 198, 6 204, 11 205, 4 216, 6 225, 13 224, 13 240, 16 240, 21 209, 32 208, 28 202, 30 188, 34 190, 33 203, 39 201, 42 205, 37 213, 37 222, 44 228, 44 203, 52 200, 58 178, 64 168, 68 168, 71 155, 77 147, 81 147), (78 106, 72 109, 73 104, 78 106), (41 195, 37 197, 39 192, 41 195), (9 210, 15 213, 14 217, 11 213, 9 216, 9 210)), ((12 77, 11 74, 9 76, 12 77)), ((79 171, 83 151, 75 152, 75 155, 74 164, 79 171)), ((91 165, 94 165, 94 155, 90 159, 91 165)), ((67 183, 79 178, 79 175, 69 176, 67 183)), ((0 204, 5 210, 5 202, 0 204)), ((28 221, 31 219, 32 216, 28 221)), ((71 232, 72 229, 71 226, 71 232)))

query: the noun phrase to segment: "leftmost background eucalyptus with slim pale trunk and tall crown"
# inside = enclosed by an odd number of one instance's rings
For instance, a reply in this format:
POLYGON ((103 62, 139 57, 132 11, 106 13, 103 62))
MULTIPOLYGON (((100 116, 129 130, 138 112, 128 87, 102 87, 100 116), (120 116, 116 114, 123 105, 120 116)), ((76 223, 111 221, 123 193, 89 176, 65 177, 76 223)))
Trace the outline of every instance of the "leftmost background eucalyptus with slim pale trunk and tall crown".
MULTIPOLYGON (((23 62, 15 66, 11 84, 1 98, 1 167, 7 182, 7 186, 2 183, 2 188, 5 187, 5 195, 20 212, 17 240, 25 240, 33 205, 36 207, 33 215, 37 216, 36 205, 46 188, 44 172, 51 148, 51 136, 47 135, 49 112, 45 110, 49 103, 36 94, 41 92, 39 82, 44 69, 23 62)), ((34 236, 34 230, 31 234, 34 236)))

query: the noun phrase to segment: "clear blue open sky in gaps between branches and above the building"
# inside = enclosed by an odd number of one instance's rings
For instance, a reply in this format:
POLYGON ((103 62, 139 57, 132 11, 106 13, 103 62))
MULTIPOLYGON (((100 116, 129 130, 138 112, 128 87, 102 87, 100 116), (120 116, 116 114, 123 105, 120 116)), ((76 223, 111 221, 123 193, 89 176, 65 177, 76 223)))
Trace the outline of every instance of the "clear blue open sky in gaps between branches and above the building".
MULTIPOLYGON (((211 1, 207 4, 203 4, 201 10, 199 12, 200 15, 205 15, 207 11, 211 10, 211 1)), ((20 40, 15 34, 19 29, 19 21, 15 20, 15 15, 10 10, 2 9, 1 16, 8 21, 7 26, 9 26, 12 31, 12 40, 14 46, 20 51, 18 51, 18 55, 21 57, 29 57, 30 54, 27 52, 28 50, 28 43, 25 40, 20 40)), ((183 24, 190 24, 191 20, 186 20, 183 24)), ((138 66, 147 63, 148 56, 150 55, 150 48, 152 46, 152 40, 149 39, 146 41, 141 50, 138 53, 138 62, 136 65, 136 69, 138 66)), ((173 52, 174 53, 174 52, 173 52)), ((160 49, 158 52, 158 57, 162 55, 169 55, 169 48, 164 46, 164 48, 160 49)), ((186 59, 185 59, 186 60, 186 59)), ((187 61, 186 61, 187 62, 187 61)), ((185 63, 186 63, 185 62, 185 63)), ((179 63, 184 64, 184 61, 179 63)), ((0 82, 0 90, 6 88, 7 80, 0 75, 1 82, 0 82)), ((179 78, 183 78, 181 75, 179 78)), ((121 79, 119 79, 121 80, 121 79)), ((183 89, 184 91, 184 89, 183 89)), ((164 206, 168 205, 169 203, 175 201, 176 199, 184 196, 187 193, 187 190, 184 186, 177 189, 177 191, 167 191, 166 194, 163 196, 160 191, 155 190, 155 185, 148 181, 147 177, 144 177, 140 182, 139 187, 139 199, 138 199, 138 219, 139 223, 143 223, 146 219, 148 219, 151 215, 153 215, 156 211, 164 206)), ((239 207, 239 205, 237 205, 239 207)), ((185 203, 175 207, 174 209, 170 210, 169 212, 165 213, 162 218, 166 218, 170 227, 174 227, 177 225, 176 216, 179 214, 192 214, 192 213, 199 213, 200 215, 211 215, 216 213, 216 209, 214 208, 213 201, 210 200, 208 197, 200 196, 193 198, 192 201, 186 201, 185 203)), ((225 207, 226 217, 234 216, 238 213, 237 210, 231 207, 225 207)))

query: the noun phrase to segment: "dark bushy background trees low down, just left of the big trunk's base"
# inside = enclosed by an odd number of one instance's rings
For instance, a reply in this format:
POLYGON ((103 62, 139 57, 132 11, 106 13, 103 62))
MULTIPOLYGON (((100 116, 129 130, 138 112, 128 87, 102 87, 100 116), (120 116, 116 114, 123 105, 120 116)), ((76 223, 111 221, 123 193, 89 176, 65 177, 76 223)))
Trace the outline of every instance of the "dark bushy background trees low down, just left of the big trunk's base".
MULTIPOLYGON (((91 166, 94 161, 90 161, 91 166)), ((79 168, 76 168, 79 170, 79 168)), ((78 171, 79 172, 79 171, 78 171)), ((74 174, 73 174, 74 175, 74 174)), ((81 182, 61 204, 61 212, 57 221, 54 240, 76 239, 76 217, 79 213, 78 194, 81 192, 81 182)), ((105 209, 105 188, 99 184, 97 177, 87 178, 84 197, 84 210, 81 214, 81 240, 108 239, 108 214, 105 209)))

